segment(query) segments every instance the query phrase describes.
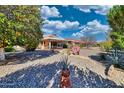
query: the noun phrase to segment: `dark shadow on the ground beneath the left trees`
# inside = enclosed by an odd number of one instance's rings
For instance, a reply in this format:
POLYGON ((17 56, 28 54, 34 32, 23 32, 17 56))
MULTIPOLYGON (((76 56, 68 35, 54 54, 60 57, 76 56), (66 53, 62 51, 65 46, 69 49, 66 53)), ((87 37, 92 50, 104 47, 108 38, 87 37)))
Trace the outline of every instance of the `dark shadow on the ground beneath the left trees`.
POLYGON ((8 65, 22 64, 27 61, 33 61, 36 59, 50 57, 57 53, 59 52, 56 51, 53 53, 50 50, 35 50, 32 52, 12 53, 12 54, 6 54, 6 61, 8 61, 8 65))

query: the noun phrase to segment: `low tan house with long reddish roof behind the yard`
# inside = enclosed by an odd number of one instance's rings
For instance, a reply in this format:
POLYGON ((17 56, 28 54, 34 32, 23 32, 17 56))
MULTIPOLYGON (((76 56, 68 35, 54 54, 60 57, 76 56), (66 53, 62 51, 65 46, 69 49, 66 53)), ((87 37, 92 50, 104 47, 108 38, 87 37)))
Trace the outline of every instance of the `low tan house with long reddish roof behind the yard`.
POLYGON ((73 45, 92 45, 93 42, 83 42, 81 40, 76 39, 66 39, 59 37, 55 34, 44 36, 41 43, 38 46, 38 49, 62 49, 64 45, 67 47, 73 45))

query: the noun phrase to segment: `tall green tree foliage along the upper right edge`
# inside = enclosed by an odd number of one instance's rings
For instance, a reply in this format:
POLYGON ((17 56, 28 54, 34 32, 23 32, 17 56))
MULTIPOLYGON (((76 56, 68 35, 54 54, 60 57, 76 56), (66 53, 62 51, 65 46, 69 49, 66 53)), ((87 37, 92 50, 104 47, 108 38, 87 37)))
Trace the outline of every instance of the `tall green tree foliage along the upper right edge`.
POLYGON ((117 5, 111 8, 108 21, 112 28, 110 37, 113 40, 113 47, 124 49, 124 6, 117 5))

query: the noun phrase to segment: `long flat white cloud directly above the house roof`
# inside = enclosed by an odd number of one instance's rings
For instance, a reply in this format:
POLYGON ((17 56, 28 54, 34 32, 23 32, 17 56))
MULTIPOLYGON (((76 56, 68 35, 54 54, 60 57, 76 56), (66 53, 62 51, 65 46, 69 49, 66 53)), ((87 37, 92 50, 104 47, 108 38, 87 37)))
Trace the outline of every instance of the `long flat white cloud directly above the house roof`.
POLYGON ((52 29, 54 31, 62 31, 62 30, 68 30, 68 29, 77 29, 79 27, 78 21, 49 21, 45 20, 45 24, 43 25, 43 28, 45 29, 52 29))

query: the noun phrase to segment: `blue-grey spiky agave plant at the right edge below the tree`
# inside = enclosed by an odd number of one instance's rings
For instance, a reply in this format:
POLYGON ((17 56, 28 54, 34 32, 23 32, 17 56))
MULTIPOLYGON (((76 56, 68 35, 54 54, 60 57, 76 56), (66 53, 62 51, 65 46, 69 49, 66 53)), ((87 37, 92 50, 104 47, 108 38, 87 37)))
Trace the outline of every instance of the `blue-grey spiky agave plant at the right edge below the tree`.
POLYGON ((120 50, 118 49, 112 50, 110 52, 109 58, 112 62, 111 64, 124 69, 124 57, 120 50))

